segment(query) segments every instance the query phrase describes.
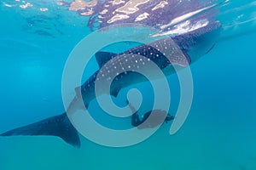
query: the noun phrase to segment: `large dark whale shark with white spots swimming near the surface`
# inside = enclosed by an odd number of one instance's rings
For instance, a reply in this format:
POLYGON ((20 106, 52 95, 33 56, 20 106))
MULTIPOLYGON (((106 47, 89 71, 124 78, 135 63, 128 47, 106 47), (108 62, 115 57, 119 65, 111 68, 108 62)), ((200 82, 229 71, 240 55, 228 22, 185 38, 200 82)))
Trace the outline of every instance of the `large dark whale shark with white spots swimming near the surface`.
MULTIPOLYGON (((221 27, 218 21, 212 20, 212 14, 206 15, 205 20, 207 20, 207 16, 211 18, 211 20, 209 20, 210 23, 208 23, 207 26, 201 26, 195 30, 174 34, 172 37, 162 38, 147 44, 141 44, 119 54, 114 54, 108 51, 97 52, 95 58, 99 70, 92 74, 81 86, 75 88, 76 95, 68 106, 66 112, 63 112, 58 116, 46 118, 39 122, 34 122, 24 127, 9 130, 8 132, 1 133, 0 136, 51 135, 60 137, 67 142, 67 144, 79 148, 81 146, 79 133, 76 128, 73 127, 67 113, 73 113, 81 109, 83 105, 89 107, 91 100, 96 98, 95 84, 96 81, 100 81, 97 80, 97 78, 113 76, 113 74, 116 74, 113 69, 115 67, 133 66, 136 69, 147 68, 147 61, 153 61, 160 70, 164 72, 166 77, 175 73, 172 67, 173 65, 178 65, 181 68, 190 65, 198 59, 198 57, 194 57, 194 54, 192 53, 193 49, 198 48, 198 44, 206 43, 207 39, 213 38, 211 36, 212 32, 218 31, 221 27), (182 54, 180 52, 182 52, 182 54), (145 60, 142 59, 132 62, 134 61, 134 59, 131 59, 132 54, 142 55, 145 60), (120 58, 120 56, 122 57, 120 58), (106 65, 110 60, 112 65, 108 67, 108 69, 100 71, 102 66, 106 65)), ((200 17, 198 17, 198 19, 201 20, 200 17)), ((195 22, 195 24, 196 23, 197 22, 195 22)), ((207 46, 205 49, 201 49, 201 51, 203 51, 202 53, 208 53, 213 46, 214 43, 211 46, 207 46)), ((119 94, 119 91, 123 88, 145 81, 147 81, 147 79, 140 76, 136 71, 121 72, 113 78, 110 95, 116 97, 119 94)))

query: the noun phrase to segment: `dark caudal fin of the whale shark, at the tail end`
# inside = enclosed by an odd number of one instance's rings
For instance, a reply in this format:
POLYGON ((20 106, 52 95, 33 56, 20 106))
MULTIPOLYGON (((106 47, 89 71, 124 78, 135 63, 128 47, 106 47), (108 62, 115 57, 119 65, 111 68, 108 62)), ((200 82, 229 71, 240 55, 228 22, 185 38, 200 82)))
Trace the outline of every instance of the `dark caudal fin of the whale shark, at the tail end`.
POLYGON ((0 136, 15 136, 15 135, 50 135, 58 136, 65 140, 67 144, 72 144, 74 147, 80 147, 79 133, 69 121, 67 114, 63 113, 59 116, 52 116, 43 121, 34 122, 24 127, 18 127, 0 136))

